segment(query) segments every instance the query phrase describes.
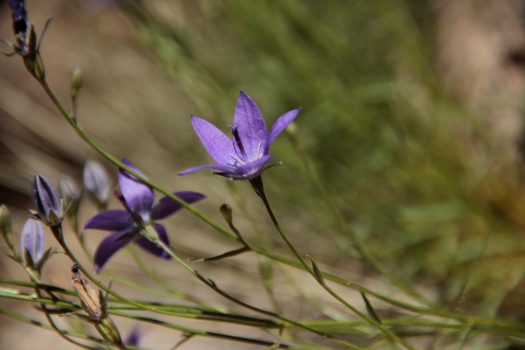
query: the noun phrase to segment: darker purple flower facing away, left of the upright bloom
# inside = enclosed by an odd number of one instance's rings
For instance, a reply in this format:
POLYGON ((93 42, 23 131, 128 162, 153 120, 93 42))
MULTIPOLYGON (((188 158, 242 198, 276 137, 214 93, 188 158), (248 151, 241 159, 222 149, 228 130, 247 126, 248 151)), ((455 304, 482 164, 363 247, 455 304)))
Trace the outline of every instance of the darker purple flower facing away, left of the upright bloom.
MULTIPOLYGON (((144 176, 130 161, 123 158, 124 163, 134 172, 144 176)), ((145 176, 144 176, 145 177, 145 176)), ((119 185, 121 193, 117 197, 121 199, 126 210, 112 209, 102 211, 86 222, 84 229, 98 229, 114 232, 100 242, 95 252, 95 271, 99 272, 104 264, 119 249, 135 241, 141 248, 149 251, 163 259, 169 259, 165 251, 157 247, 155 243, 140 235, 144 225, 153 225, 159 238, 169 245, 164 226, 157 224, 154 220, 164 219, 182 208, 180 204, 169 197, 163 197, 159 203, 154 205, 153 189, 141 183, 131 174, 119 170, 119 185)), ((194 203, 205 196, 193 191, 173 192, 174 195, 183 199, 186 203, 194 203)))

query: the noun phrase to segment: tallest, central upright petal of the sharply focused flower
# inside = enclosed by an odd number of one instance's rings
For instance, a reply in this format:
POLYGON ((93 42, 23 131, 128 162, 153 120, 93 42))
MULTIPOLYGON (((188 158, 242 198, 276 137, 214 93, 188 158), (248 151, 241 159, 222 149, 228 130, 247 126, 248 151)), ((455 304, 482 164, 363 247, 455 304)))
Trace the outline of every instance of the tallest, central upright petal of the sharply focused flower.
POLYGON ((257 104, 243 91, 240 92, 235 105, 233 126, 237 129, 246 152, 247 159, 244 161, 249 162, 259 158, 266 145, 268 133, 266 123, 257 104))

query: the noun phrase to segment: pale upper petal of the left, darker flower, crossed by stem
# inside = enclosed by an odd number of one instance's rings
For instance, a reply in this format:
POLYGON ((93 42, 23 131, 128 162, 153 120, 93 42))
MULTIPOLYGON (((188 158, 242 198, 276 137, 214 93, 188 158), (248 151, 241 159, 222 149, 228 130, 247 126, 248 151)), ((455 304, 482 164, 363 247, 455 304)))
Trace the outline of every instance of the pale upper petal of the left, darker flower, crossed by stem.
MULTIPOLYGON (((122 163, 131 168, 135 173, 145 177, 144 174, 126 158, 122 158, 122 163)), ((144 221, 148 222, 153 207, 153 189, 150 186, 144 185, 139 179, 122 169, 119 170, 119 185, 128 208, 135 211, 144 221)))

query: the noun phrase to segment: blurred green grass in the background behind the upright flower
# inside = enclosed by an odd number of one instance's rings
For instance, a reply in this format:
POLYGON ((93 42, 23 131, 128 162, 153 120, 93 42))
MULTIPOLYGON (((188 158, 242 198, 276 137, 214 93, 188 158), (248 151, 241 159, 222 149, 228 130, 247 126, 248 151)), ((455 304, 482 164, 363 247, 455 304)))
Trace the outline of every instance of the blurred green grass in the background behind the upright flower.
MULTIPOLYGON (((183 1, 122 9, 144 54, 182 89, 194 114, 227 124, 239 90, 268 124, 302 106, 298 132, 323 185, 396 274, 438 287, 445 300, 466 281, 472 298, 500 300, 521 279, 520 163, 444 87, 428 2, 183 1)), ((157 122, 159 129, 170 123, 157 122)), ((192 133, 190 123, 183 128, 192 133)), ((285 166, 266 175, 281 220, 302 221, 295 234, 309 241, 306 251, 322 236, 332 241, 317 248, 325 259, 349 263, 333 244, 348 242, 283 139, 272 154, 285 166)), ((207 156, 196 143, 185 136, 171 147, 184 164, 201 164, 207 156)))

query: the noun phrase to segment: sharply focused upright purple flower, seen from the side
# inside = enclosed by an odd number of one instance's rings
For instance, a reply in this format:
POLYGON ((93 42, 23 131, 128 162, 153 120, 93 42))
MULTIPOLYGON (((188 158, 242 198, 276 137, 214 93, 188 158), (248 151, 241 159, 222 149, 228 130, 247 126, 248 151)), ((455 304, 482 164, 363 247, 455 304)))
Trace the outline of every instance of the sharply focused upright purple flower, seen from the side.
POLYGON ((228 125, 232 129, 233 140, 213 124, 192 115, 193 129, 216 164, 195 166, 178 175, 211 168, 220 171, 214 174, 233 179, 258 176, 268 168, 263 166, 270 160, 268 150, 271 143, 296 118, 300 110, 294 109, 281 115, 268 132, 257 104, 241 91, 235 105, 233 125, 228 125))

